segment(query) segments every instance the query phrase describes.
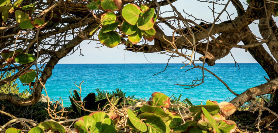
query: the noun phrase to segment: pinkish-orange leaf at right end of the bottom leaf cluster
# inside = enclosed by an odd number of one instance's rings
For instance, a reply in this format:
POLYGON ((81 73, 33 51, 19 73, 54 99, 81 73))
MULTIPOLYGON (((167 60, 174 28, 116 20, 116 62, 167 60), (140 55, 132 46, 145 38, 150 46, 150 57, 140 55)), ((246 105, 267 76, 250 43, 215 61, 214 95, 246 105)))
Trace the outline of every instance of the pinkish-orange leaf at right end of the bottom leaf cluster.
POLYGON ((236 107, 228 102, 219 103, 220 112, 224 116, 230 116, 236 111, 236 107))

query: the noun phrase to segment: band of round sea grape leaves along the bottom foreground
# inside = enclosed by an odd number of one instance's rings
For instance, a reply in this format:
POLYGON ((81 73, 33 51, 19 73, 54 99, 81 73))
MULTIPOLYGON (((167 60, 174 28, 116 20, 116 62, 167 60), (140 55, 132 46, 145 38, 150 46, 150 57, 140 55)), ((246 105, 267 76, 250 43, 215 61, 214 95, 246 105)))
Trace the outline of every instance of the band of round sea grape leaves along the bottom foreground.
MULTIPOLYGON (((229 116, 235 111, 235 106, 231 103, 208 100, 206 105, 197 105, 189 108, 193 112, 193 119, 186 120, 184 123, 180 114, 168 110, 170 105, 169 97, 163 93, 153 93, 148 101, 149 105, 142 106, 142 113, 125 108, 128 114, 127 125, 131 132, 145 133, 181 133, 181 132, 214 132, 214 133, 232 133, 236 130, 236 123, 226 120, 224 116, 229 116), (160 107, 161 106, 161 107, 160 107), (195 113, 194 113, 195 112, 195 113)), ((79 133, 116 133, 122 128, 117 127, 119 115, 113 113, 113 110, 107 112, 96 111, 89 115, 82 116, 74 123, 75 130, 79 133)), ((10 128, 17 132, 18 129, 10 128)), ((62 125, 57 122, 42 122, 29 133, 51 130, 52 132, 64 133, 62 125), (37 131, 38 130, 38 131, 37 131)))

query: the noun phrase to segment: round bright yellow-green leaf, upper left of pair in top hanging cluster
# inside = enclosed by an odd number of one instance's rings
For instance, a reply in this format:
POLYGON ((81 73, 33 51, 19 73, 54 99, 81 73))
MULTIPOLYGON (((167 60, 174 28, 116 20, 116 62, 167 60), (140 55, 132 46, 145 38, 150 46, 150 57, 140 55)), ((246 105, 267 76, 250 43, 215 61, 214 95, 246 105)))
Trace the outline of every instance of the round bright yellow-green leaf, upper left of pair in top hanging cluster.
POLYGON ((127 4, 122 10, 122 16, 125 21, 131 25, 135 25, 142 11, 140 8, 134 4, 127 4))

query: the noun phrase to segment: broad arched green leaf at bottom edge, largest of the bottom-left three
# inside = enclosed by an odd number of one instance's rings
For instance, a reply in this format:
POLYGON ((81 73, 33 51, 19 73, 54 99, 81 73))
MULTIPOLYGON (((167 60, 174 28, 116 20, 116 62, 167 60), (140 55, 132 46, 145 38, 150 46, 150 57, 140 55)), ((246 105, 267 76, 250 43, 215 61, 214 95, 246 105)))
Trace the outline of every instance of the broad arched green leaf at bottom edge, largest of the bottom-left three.
POLYGON ((57 131, 59 131, 60 133, 66 132, 64 127, 61 124, 59 124, 58 122, 52 122, 52 121, 42 122, 37 127, 40 127, 43 130, 50 129, 51 132, 57 132, 57 131))

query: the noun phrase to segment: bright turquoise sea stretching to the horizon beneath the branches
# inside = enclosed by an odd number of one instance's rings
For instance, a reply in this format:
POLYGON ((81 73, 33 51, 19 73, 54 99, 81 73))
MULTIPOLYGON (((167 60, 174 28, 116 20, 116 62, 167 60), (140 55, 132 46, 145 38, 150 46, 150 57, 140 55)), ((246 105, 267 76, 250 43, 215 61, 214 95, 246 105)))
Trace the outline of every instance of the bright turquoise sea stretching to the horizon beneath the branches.
MULTIPOLYGON (((192 66, 180 69, 183 64, 169 64, 171 68, 153 76, 165 66, 166 64, 57 64, 45 86, 48 96, 53 100, 62 97, 64 105, 70 104, 69 90, 78 89, 74 82, 79 84, 82 81, 82 96, 96 92, 96 88, 104 91, 120 88, 127 95, 135 94, 136 98, 148 99, 153 92, 165 93, 168 96, 183 94, 182 98, 192 98, 192 103, 196 105, 208 99, 221 102, 235 97, 208 72, 205 72, 205 83, 195 88, 184 89, 182 86, 174 85, 190 84, 192 80, 202 78, 200 69, 185 72, 192 66)), ((206 68, 219 76, 236 93, 242 93, 248 88, 266 82, 264 75, 267 77, 267 74, 259 64, 239 66, 240 70, 238 67, 235 68, 234 64, 216 64, 206 68)), ((20 90, 27 88, 20 83, 18 87, 20 90)))

